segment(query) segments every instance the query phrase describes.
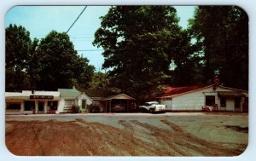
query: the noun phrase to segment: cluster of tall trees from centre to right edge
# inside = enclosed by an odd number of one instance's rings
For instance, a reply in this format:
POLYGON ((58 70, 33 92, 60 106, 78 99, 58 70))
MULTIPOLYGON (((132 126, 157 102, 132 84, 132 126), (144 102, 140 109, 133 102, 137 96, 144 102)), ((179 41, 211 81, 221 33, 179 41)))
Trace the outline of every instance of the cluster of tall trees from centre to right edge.
POLYGON ((248 17, 239 7, 196 7, 186 30, 172 6, 113 6, 101 20, 93 44, 104 49, 109 85, 139 101, 216 75, 248 89, 248 17))

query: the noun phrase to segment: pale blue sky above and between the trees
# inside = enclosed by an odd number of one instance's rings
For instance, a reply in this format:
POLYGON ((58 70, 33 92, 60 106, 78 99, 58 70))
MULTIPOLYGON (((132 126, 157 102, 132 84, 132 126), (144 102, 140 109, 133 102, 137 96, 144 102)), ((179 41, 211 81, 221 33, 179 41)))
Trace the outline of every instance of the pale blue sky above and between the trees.
MULTIPOLYGON (((179 25, 184 28, 194 15, 195 6, 174 6, 177 16, 180 18, 179 25)), ((15 6, 9 9, 5 16, 5 27, 9 24, 24 26, 30 32, 33 39, 41 39, 49 32, 67 32, 68 28, 77 19, 84 6, 15 6)), ((88 6, 79 20, 73 25, 68 33, 73 42, 74 49, 79 55, 86 57, 96 67, 96 71, 102 70, 104 57, 102 49, 92 45, 94 33, 101 26, 100 16, 108 13, 109 6, 88 6)))

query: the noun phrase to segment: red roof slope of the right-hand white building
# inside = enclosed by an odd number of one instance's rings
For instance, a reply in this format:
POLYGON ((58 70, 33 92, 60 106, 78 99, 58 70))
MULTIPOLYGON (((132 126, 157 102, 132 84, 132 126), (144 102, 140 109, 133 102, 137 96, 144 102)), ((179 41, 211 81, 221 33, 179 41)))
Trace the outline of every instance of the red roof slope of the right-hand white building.
POLYGON ((203 89, 205 87, 211 86, 209 84, 200 84, 200 85, 193 85, 193 86, 185 86, 185 87, 165 87, 164 94, 161 97, 165 96, 172 96, 172 95, 181 95, 183 93, 196 90, 196 89, 203 89))

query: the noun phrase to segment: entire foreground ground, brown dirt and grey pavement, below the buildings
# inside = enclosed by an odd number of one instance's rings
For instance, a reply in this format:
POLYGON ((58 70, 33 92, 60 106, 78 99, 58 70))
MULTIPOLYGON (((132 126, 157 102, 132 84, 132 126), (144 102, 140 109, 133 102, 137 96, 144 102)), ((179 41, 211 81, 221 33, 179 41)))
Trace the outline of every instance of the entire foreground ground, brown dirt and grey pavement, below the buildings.
POLYGON ((6 146, 21 156, 237 156, 247 113, 6 116, 6 146))

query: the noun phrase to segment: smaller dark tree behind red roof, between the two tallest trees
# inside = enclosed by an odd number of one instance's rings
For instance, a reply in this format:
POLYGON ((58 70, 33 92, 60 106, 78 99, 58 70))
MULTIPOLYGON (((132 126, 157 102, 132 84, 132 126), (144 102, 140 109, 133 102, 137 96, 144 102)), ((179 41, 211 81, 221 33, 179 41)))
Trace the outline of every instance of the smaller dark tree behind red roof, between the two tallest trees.
POLYGON ((166 84, 174 86, 192 85, 201 83, 201 56, 196 53, 198 47, 191 44, 189 31, 185 30, 179 34, 176 47, 169 48, 175 55, 172 57, 175 68, 171 70, 171 81, 166 84))

